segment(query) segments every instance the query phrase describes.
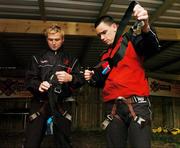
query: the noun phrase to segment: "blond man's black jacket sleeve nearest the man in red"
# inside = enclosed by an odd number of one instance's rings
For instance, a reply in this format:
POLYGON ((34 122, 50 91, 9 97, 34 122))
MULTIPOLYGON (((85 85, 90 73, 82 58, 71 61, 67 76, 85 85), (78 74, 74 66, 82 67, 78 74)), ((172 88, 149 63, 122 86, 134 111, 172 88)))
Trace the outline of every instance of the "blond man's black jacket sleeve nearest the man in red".
POLYGON ((70 87, 76 89, 85 83, 85 79, 78 59, 73 60, 72 63, 72 81, 70 82, 70 87))

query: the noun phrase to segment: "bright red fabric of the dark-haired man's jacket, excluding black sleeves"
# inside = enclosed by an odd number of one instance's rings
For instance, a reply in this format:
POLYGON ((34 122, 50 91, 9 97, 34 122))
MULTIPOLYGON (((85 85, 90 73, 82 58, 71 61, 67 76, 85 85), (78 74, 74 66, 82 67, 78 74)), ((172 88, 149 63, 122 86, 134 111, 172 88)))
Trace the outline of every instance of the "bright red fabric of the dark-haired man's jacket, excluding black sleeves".
MULTIPOLYGON (((109 48, 101 60, 112 58, 119 49, 122 38, 119 39, 115 48, 109 48)), ((149 88, 142 67, 142 59, 137 55, 132 43, 129 41, 125 55, 117 66, 114 66, 106 78, 103 87, 104 101, 113 100, 119 96, 129 97, 132 95, 148 96, 149 88)))

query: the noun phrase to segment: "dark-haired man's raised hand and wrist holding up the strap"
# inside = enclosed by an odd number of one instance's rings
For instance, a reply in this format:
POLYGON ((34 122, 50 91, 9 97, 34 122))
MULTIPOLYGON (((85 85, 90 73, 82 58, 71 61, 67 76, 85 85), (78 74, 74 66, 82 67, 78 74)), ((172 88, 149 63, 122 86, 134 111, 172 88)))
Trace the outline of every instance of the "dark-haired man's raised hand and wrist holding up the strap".
POLYGON ((133 9, 133 16, 137 20, 144 21, 144 26, 142 27, 143 32, 149 32, 150 26, 149 26, 149 16, 147 10, 145 10, 141 5, 137 4, 133 9))

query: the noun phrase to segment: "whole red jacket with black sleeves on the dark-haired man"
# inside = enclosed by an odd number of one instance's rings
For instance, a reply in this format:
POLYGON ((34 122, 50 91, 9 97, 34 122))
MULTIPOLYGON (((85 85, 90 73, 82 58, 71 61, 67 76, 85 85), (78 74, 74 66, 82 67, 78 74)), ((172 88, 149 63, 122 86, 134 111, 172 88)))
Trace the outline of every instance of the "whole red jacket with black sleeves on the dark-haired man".
MULTIPOLYGON (((139 38, 139 37, 138 37, 139 38)), ((127 42, 125 53, 116 64, 111 59, 121 50, 122 37, 119 37, 114 47, 109 47, 101 61, 107 60, 111 70, 108 74, 102 75, 102 67, 95 70, 92 82, 95 86, 103 87, 104 101, 116 99, 119 96, 130 97, 132 95, 148 96, 149 87, 143 68, 143 59, 159 50, 159 42, 156 35, 150 31, 141 34, 141 40, 136 42, 137 37, 131 36, 127 42), (110 59, 110 60, 109 60, 110 59), (113 63, 111 65, 111 63, 113 63)), ((106 64, 105 64, 106 65, 106 64)))

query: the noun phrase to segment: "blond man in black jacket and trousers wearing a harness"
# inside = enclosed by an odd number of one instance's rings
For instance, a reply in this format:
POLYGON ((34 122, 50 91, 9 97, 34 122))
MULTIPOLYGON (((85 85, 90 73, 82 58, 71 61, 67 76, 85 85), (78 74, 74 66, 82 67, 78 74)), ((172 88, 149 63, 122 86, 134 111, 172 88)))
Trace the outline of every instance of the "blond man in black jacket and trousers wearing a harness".
POLYGON ((71 144, 72 90, 83 83, 78 60, 63 50, 64 31, 58 25, 46 29, 49 46, 45 52, 33 56, 26 73, 27 89, 33 94, 24 147, 38 148, 48 124, 56 147, 69 148, 71 144), (51 120, 49 120, 51 119, 51 120), (48 124, 47 124, 48 121, 48 124), (53 124, 51 124, 53 123, 53 124))

